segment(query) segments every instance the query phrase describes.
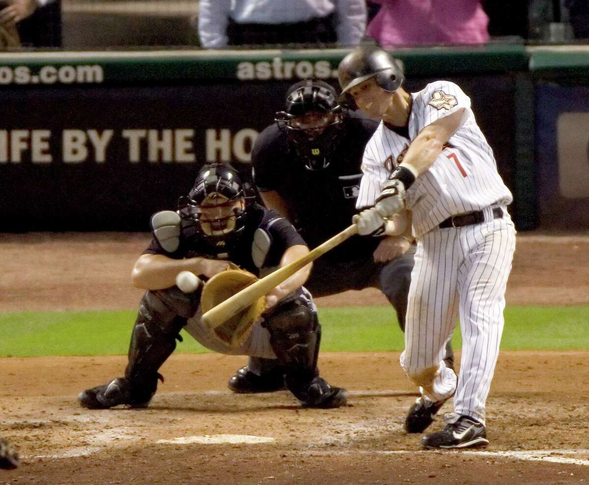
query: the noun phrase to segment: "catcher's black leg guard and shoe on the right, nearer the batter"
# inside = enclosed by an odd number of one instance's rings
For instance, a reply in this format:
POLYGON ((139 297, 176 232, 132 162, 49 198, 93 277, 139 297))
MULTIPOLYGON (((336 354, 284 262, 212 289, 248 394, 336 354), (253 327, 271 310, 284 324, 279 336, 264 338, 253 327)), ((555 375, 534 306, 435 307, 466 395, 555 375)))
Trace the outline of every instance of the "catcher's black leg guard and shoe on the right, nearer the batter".
POLYGON ((330 386, 319 376, 321 326, 309 304, 302 299, 279 304, 264 320, 272 349, 284 365, 286 387, 302 405, 312 408, 345 405, 348 391, 330 386))

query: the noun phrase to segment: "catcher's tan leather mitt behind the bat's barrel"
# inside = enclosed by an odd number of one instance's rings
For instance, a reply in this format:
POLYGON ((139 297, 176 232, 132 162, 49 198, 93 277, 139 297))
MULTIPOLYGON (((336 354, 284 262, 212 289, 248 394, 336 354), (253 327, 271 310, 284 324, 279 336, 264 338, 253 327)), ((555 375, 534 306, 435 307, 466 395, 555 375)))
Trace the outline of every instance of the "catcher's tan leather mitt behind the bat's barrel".
MULTIPOLYGON (((204 284, 200 299, 202 313, 208 312, 255 281, 257 277, 249 271, 228 269, 217 273, 204 284)), ((214 327, 216 336, 232 347, 240 346, 250 335, 254 323, 264 311, 264 300, 263 296, 260 297, 245 310, 214 327)))

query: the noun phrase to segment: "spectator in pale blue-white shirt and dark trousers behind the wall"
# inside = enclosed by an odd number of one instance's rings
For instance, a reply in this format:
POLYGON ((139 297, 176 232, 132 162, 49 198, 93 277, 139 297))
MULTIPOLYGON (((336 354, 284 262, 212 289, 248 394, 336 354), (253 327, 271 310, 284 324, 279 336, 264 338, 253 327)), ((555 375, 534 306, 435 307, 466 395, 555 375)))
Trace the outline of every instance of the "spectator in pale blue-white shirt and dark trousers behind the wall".
POLYGON ((357 45, 366 28, 366 0, 200 0, 203 47, 227 45, 357 45))

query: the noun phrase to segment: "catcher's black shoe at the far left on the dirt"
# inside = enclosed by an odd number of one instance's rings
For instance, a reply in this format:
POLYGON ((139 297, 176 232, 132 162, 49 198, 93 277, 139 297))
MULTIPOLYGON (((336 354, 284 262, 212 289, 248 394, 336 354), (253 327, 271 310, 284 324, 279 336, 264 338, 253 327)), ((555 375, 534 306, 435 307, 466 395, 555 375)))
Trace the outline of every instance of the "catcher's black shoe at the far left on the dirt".
MULTIPOLYGON (((158 374, 163 382, 163 378, 158 374)), ((128 379, 118 377, 112 379, 108 384, 96 386, 78 394, 78 401, 84 408, 108 409, 120 404, 132 408, 145 408, 157 389, 157 380, 154 386, 147 386, 141 389, 132 388, 128 379)))

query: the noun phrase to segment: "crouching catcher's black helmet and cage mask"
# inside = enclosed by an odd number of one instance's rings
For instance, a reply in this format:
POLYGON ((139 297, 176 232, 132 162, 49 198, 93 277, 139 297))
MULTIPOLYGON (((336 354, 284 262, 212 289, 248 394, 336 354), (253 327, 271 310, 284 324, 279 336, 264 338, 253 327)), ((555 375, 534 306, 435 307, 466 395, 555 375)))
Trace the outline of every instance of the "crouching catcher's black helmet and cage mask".
POLYGON ((239 237, 246 223, 249 187, 239 173, 223 163, 204 165, 188 196, 178 201, 180 214, 196 222, 197 231, 211 244, 239 237))

